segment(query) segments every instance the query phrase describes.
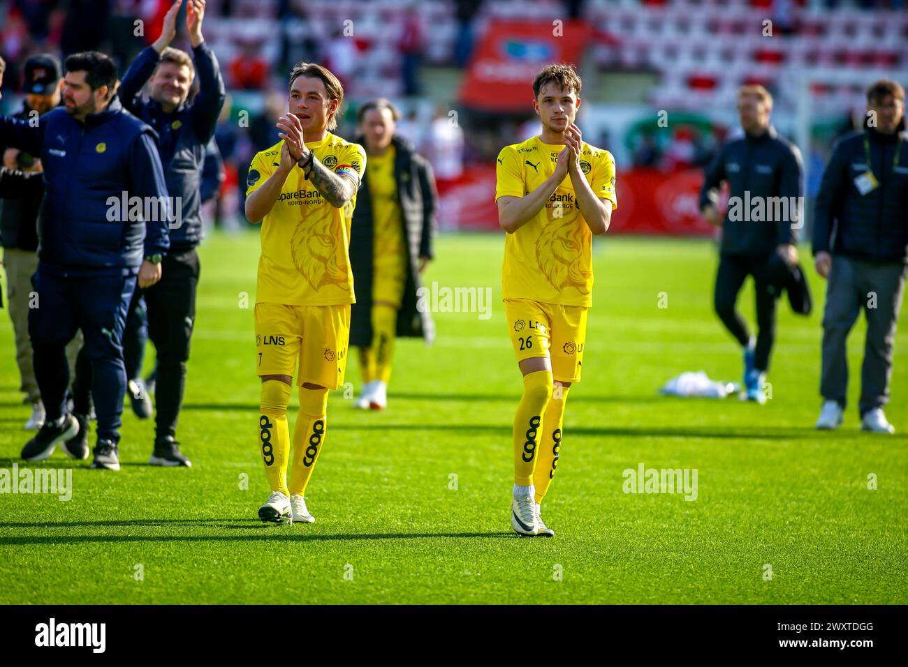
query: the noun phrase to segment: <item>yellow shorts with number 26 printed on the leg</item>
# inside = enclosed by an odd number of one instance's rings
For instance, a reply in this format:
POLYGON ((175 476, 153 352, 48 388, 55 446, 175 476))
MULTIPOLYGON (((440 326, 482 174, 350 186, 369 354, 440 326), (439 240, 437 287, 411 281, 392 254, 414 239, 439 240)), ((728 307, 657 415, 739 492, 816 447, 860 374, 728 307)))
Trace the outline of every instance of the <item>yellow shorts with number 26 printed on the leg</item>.
POLYGON ((589 309, 529 299, 504 299, 504 304, 518 362, 548 357, 556 380, 579 382, 589 309))

